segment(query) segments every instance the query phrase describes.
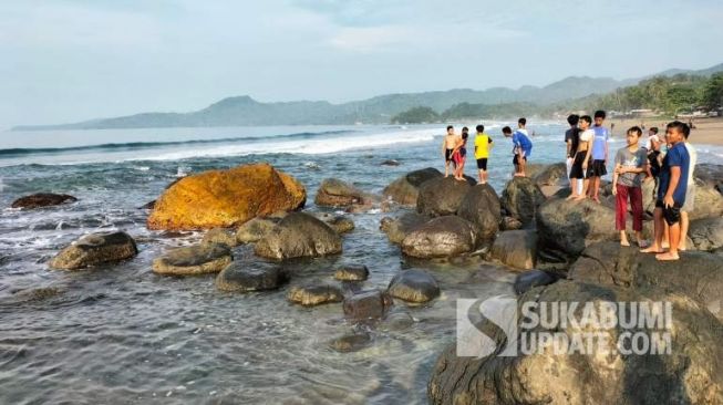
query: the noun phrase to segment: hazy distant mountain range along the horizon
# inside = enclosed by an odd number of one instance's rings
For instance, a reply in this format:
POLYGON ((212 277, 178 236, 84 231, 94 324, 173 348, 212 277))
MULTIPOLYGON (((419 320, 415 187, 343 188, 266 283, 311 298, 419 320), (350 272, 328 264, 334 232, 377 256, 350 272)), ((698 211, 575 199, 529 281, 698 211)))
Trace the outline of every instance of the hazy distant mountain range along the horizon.
POLYGON ((386 124, 391 117, 417 106, 431 107, 437 113, 455 104, 510 104, 535 103, 548 105, 592 94, 605 94, 616 89, 634 85, 641 80, 679 73, 711 75, 723 71, 723 63, 699 70, 672 69, 655 75, 617 81, 610 77, 570 76, 544 87, 521 86, 517 90, 492 87, 483 91, 455 89, 448 91, 386 94, 343 104, 326 101, 296 101, 261 103, 250 96, 224 98, 208 107, 192 113, 142 113, 114 118, 101 118, 62 125, 22 125, 13 131, 42 129, 106 129, 207 127, 241 125, 312 125, 312 124, 386 124))

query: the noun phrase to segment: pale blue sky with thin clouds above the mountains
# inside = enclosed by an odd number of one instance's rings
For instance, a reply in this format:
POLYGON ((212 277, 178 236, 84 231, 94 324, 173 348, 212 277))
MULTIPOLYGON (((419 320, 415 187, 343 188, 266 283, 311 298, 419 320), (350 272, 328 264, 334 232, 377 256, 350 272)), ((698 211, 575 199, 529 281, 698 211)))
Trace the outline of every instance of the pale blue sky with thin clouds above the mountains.
POLYGON ((0 128, 723 62, 720 0, 0 0, 0 128))

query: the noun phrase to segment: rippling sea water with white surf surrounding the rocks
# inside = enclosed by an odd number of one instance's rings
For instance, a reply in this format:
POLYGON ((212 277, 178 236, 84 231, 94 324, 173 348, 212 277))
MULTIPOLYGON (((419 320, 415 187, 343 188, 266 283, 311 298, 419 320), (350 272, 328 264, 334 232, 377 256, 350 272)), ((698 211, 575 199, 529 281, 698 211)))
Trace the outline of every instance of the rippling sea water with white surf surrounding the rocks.
MULTIPOLYGON (((474 127, 472 123, 467 124, 474 127)), ((496 142, 490 183, 510 178, 510 142, 496 142)), ((530 125, 530 162, 565 156, 565 127, 530 125)), ((151 271, 165 249, 199 233, 145 229, 155 199, 179 176, 268 162, 302 181, 309 210, 323 178, 380 193, 403 174, 443 169, 440 126, 234 127, 0 133, 0 403, 426 403, 437 353, 454 341, 455 300, 512 293, 515 273, 492 263, 410 262, 379 230, 379 211, 345 214, 357 229, 339 257, 286 264, 290 285, 332 281, 333 269, 363 263, 363 288, 385 288, 402 269, 423 269, 442 297, 422 307, 397 302, 414 324, 405 330, 353 325, 340 304, 306 309, 286 300, 288 287, 224 293, 213 277, 169 278, 151 271), (381 166, 396 159, 400 166, 381 166), (19 211, 18 197, 71 194, 72 205, 19 211), (80 236, 123 229, 138 242, 133 260, 79 272, 51 271, 47 261, 80 236), (352 331, 372 344, 338 353, 328 342, 352 331)), ((622 146, 613 139, 611 149, 622 146)), ((720 147, 699 145, 700 162, 720 147)), ((472 152, 472 146, 469 147, 472 152)), ((466 173, 476 176, 474 160, 466 173)), ((249 247, 236 260, 261 266, 249 247)))

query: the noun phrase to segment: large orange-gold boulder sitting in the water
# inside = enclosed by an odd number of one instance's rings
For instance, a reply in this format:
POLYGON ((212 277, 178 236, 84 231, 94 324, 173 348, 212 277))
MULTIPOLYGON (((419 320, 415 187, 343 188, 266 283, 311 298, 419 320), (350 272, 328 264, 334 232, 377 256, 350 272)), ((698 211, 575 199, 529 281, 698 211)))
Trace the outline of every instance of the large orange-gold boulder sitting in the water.
POLYGON ((209 170, 184 177, 157 200, 149 229, 209 229, 239 226, 251 218, 303 207, 307 191, 293 177, 268 164, 209 170))

